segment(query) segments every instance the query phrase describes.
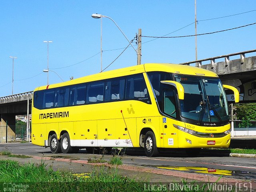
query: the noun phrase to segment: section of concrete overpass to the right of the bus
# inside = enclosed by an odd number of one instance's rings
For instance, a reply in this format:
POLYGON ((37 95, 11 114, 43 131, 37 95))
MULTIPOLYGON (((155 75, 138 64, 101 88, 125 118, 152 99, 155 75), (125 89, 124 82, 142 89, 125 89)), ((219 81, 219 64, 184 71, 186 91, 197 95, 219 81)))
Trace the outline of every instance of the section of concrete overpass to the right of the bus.
MULTIPOLYGON (((256 102, 256 56, 245 57, 245 54, 256 52, 249 50, 228 55, 217 56, 182 64, 196 64, 215 72, 220 77, 222 84, 234 86, 240 93, 240 103, 256 102), (239 59, 230 60, 231 56, 237 56, 239 59), (215 62, 216 59, 223 59, 222 62, 215 62), (210 62, 210 64, 202 64, 210 62)), ((230 90, 226 91, 229 102, 234 101, 234 95, 230 90)))

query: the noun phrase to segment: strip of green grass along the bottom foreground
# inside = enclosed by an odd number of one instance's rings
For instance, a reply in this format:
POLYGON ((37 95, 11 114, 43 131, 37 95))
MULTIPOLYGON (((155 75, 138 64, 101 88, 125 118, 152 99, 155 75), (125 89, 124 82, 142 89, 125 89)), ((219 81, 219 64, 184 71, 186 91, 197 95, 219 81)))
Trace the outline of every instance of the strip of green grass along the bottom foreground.
MULTIPOLYGON (((16 185, 15 191, 68 191, 68 192, 141 192, 141 191, 170 191, 167 184, 158 183, 154 185, 151 182, 136 181, 128 177, 118 174, 116 168, 100 167, 95 169, 92 173, 72 174, 71 172, 53 171, 52 168, 46 168, 46 164, 20 164, 12 160, 0 160, 0 182, 9 184, 9 186, 16 185), (166 189, 166 190, 165 190, 166 189)), ((221 177, 220 177, 221 178, 221 177)), ((187 192, 214 192, 214 188, 210 190, 208 183, 186 182, 181 180, 181 187, 176 187, 172 190, 174 192, 184 191, 183 186, 192 186, 187 192), (208 188, 207 188, 208 187, 208 188)), ((4 191, 4 184, 0 185, 0 191, 4 191)), ((170 184, 170 182, 168 182, 170 184)), ((214 184, 210 183, 209 184, 214 184)), ((219 184, 218 184, 219 185, 219 184)), ((221 185, 221 184, 220 184, 221 185)), ((174 186, 174 185, 173 185, 174 186)), ((232 188, 233 190, 234 188, 232 188)), ((232 191, 222 190, 223 192, 232 191)), ((13 191, 13 190, 11 190, 13 191)))

